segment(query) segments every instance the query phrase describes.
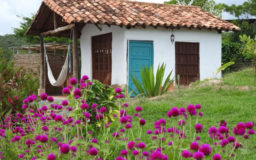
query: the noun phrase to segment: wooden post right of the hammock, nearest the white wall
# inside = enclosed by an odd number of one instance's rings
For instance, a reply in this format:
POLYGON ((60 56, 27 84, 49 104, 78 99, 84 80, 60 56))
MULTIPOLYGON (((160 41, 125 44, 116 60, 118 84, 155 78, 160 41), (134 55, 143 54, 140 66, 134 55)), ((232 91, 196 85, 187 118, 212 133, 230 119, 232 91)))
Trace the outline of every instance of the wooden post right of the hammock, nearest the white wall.
POLYGON ((73 26, 73 77, 78 80, 79 71, 79 55, 77 48, 78 31, 76 26, 73 26))

